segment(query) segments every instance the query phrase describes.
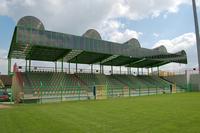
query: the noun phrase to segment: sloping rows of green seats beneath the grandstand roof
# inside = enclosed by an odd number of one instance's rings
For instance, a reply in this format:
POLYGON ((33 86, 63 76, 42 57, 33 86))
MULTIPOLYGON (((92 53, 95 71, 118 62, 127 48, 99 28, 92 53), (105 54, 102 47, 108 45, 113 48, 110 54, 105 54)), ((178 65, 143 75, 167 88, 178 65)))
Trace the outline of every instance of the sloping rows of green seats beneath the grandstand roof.
POLYGON ((77 73, 67 74, 62 72, 26 72, 22 73, 24 90, 34 88, 67 88, 79 86, 92 90, 94 85, 108 85, 111 88, 131 87, 140 88, 164 88, 169 83, 156 76, 133 76, 133 75, 104 75, 77 73))

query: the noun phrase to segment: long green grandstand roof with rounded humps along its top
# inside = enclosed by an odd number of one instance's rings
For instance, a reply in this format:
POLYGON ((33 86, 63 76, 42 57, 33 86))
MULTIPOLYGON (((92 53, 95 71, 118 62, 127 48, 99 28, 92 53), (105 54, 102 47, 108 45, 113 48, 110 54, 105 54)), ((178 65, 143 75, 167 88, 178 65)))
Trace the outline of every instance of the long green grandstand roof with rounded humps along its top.
POLYGON ((48 31, 39 19, 31 16, 23 17, 16 25, 8 58, 127 67, 187 63, 183 51, 168 53, 164 46, 141 48, 135 38, 124 44, 105 41, 94 29, 82 36, 48 31))

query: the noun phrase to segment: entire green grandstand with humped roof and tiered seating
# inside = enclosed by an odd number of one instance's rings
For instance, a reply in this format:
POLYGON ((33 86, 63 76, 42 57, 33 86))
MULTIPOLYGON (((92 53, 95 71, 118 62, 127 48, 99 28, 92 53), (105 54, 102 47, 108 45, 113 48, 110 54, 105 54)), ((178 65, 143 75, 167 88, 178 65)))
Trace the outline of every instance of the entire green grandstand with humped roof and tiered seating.
POLYGON ((16 103, 186 91, 187 85, 182 85, 183 82, 179 85, 175 79, 160 77, 159 67, 171 62, 187 64, 186 52, 169 53, 164 46, 143 48, 135 38, 123 44, 105 41, 94 29, 82 36, 48 31, 36 17, 25 16, 14 29, 8 53, 8 73, 13 75, 16 103), (23 59, 26 65, 15 64, 11 71, 12 59, 23 59), (55 62, 55 67, 32 66, 34 60, 55 62), (67 68, 64 63, 68 64, 67 68), (75 69, 71 64, 75 64, 75 69), (79 64, 88 64, 91 68, 85 70, 81 65, 78 67, 79 64), (98 65, 99 69, 94 69, 93 65, 98 65), (105 66, 110 70, 105 70, 105 66), (118 67, 119 71, 113 67, 118 67), (127 71, 122 71, 121 67, 127 71))

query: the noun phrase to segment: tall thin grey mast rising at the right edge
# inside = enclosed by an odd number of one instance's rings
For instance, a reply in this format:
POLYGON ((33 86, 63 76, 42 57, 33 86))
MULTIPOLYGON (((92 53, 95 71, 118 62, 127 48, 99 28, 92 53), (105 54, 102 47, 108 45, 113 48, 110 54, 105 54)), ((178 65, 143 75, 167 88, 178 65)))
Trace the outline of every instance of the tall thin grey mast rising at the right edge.
POLYGON ((196 32, 198 71, 200 73, 200 36, 199 36, 199 25, 198 25, 197 9, 196 9, 196 1, 195 0, 192 0, 192 6, 193 6, 193 13, 194 13, 195 32, 196 32))

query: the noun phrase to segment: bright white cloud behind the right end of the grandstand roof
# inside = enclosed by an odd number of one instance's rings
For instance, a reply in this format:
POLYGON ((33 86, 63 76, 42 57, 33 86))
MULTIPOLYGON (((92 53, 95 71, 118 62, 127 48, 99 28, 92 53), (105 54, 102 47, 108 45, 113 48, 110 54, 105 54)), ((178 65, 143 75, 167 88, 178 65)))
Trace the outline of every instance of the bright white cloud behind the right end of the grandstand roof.
POLYGON ((183 71, 186 68, 193 68, 197 66, 197 50, 196 50, 196 37, 194 33, 185 33, 171 40, 160 40, 153 48, 164 45, 168 52, 175 53, 181 50, 185 50, 187 53, 187 65, 180 65, 177 63, 170 63, 164 65, 162 69, 177 71, 183 71))

